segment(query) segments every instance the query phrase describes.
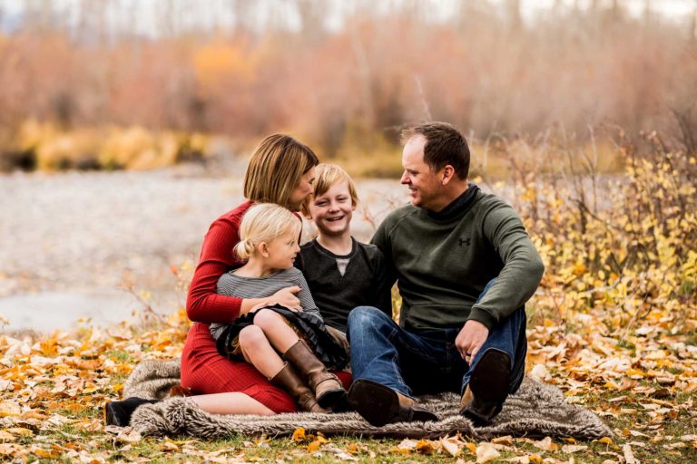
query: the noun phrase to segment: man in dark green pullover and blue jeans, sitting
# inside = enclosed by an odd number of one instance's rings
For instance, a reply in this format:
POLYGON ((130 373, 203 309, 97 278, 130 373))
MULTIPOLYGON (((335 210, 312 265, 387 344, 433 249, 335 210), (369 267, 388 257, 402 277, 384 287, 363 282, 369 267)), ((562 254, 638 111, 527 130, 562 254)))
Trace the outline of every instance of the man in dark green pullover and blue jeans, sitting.
POLYGON ((410 205, 378 227, 399 325, 376 308, 348 316, 349 403, 371 424, 437 420, 411 395, 458 391, 477 425, 501 411, 525 371, 525 301, 544 265, 513 208, 467 182, 465 137, 444 122, 402 132, 410 205))

